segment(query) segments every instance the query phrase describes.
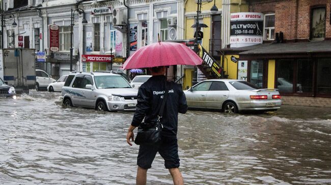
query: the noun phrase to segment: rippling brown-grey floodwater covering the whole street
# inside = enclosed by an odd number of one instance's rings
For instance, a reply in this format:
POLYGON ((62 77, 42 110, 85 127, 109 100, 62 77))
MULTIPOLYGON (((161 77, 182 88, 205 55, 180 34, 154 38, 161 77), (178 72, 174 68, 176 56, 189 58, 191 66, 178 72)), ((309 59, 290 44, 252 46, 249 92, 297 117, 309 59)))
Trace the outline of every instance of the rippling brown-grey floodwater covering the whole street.
MULTIPOLYGON (((134 184, 133 113, 63 108, 60 93, 0 99, 0 184, 134 184)), ((331 184, 331 109, 179 115, 185 184, 331 184)), ((172 184, 157 155, 148 184, 172 184)))

